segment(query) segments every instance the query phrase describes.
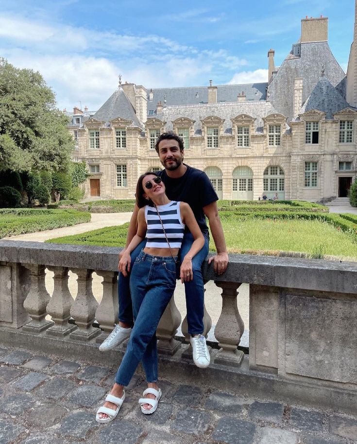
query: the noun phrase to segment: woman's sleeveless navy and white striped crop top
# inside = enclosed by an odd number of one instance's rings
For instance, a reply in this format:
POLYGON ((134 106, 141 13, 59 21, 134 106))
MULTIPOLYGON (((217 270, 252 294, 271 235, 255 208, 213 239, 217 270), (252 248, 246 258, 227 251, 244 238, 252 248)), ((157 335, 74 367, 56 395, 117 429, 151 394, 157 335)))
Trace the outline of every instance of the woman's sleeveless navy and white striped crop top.
MULTIPOLYGON (((158 205, 157 210, 164 225, 171 248, 180 248, 184 237, 185 224, 180 214, 180 202, 171 201, 166 205, 158 205)), ((165 233, 155 207, 145 207, 145 220, 148 226, 146 232, 146 247, 169 248, 165 233)))

